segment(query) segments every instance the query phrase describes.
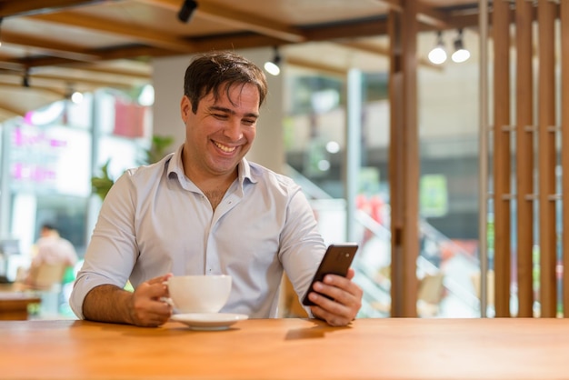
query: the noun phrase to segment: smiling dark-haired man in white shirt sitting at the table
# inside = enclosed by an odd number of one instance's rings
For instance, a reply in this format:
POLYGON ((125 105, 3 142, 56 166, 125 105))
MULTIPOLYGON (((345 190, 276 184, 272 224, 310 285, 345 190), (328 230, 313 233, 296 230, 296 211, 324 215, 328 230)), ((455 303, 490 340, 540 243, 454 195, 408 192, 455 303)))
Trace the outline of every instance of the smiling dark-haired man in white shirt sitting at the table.
MULTIPOLYGON (((325 250, 313 211, 290 178, 245 159, 266 94, 263 71, 244 57, 195 57, 180 104, 185 143, 126 171, 105 197, 70 299, 77 316, 162 325, 171 275, 231 275, 221 312, 253 318, 277 316, 283 272, 304 294, 325 250)), ((310 314, 352 321, 362 300, 353 276, 316 284, 310 314)))

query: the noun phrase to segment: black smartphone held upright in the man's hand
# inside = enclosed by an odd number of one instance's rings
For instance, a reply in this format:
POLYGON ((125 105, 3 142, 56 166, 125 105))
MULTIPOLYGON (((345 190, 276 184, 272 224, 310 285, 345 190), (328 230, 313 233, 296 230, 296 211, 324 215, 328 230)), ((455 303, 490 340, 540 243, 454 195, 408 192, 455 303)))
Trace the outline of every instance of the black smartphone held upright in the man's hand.
POLYGON ((356 243, 343 243, 328 246, 320 265, 318 265, 318 269, 316 269, 316 273, 314 274, 310 286, 308 286, 308 290, 304 294, 303 305, 314 305, 314 303, 308 299, 308 295, 310 292, 314 292, 314 283, 316 281, 322 282, 324 275, 347 275, 348 269, 354 260, 357 248, 358 245, 356 243))

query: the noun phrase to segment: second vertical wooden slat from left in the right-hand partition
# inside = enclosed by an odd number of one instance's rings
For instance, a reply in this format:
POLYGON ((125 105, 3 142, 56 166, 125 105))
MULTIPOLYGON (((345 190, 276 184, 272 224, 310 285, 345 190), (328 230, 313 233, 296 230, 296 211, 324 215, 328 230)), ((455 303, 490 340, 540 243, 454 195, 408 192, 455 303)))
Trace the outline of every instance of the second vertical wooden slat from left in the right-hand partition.
POLYGON ((515 2, 515 163, 517 204, 517 288, 518 316, 533 316, 533 200, 534 134, 527 126, 534 125, 534 73, 532 61, 532 23, 534 6, 526 0, 515 2))

